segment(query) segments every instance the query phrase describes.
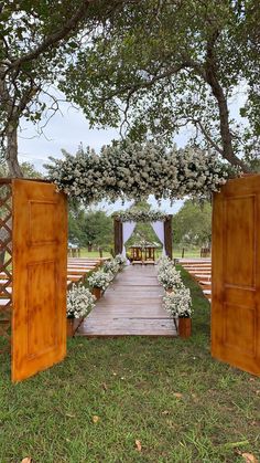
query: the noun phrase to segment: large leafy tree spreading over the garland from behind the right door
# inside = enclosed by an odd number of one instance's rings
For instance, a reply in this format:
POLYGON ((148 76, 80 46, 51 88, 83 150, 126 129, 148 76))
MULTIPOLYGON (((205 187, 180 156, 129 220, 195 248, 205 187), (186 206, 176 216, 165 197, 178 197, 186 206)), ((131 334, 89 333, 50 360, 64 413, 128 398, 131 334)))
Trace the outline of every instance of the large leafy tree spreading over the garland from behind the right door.
POLYGON ((133 139, 152 135, 169 143, 192 125, 193 145, 247 171, 241 154, 258 149, 260 135, 259 21, 256 0, 122 4, 76 51, 61 88, 91 125, 121 124, 133 139), (243 129, 230 115, 240 84, 243 129))

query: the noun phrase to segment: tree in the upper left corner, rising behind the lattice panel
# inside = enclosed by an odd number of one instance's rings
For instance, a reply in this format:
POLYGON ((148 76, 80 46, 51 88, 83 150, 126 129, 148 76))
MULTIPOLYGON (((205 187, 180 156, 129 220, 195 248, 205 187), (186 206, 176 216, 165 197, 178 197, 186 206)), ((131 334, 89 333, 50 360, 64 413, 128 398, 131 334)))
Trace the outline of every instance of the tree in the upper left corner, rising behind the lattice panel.
MULTIPOLYGON (((93 0, 15 0, 0 2, 0 135, 11 176, 21 177, 18 127, 21 117, 39 123, 61 70, 95 24, 93 0)), ((101 2, 97 2, 98 4, 101 2)), ((110 3, 110 2, 109 2, 110 3)), ((97 8, 96 8, 97 9, 97 8)))

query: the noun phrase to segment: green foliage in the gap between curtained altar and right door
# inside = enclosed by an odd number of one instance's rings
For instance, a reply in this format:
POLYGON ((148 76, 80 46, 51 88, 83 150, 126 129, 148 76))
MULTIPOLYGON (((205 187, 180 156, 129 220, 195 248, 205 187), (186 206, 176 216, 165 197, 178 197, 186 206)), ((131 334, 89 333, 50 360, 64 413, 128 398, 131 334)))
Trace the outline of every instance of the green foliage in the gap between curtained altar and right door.
POLYGON ((173 242, 208 246, 212 242, 212 206, 187 200, 173 217, 173 242))

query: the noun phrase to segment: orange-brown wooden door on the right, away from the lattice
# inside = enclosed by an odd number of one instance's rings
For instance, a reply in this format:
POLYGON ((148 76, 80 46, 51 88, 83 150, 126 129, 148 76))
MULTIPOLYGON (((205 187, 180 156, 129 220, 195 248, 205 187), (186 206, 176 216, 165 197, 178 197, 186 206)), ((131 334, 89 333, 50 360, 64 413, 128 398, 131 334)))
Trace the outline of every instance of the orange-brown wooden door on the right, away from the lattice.
POLYGON ((214 194, 212 354, 260 375, 260 176, 214 194))

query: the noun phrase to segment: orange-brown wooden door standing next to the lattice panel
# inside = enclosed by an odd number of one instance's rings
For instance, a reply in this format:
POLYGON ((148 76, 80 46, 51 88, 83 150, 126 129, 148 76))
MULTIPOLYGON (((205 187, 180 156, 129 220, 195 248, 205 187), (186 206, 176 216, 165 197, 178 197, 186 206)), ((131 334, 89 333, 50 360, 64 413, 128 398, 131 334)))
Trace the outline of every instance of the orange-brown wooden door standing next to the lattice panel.
POLYGON ((12 380, 66 355, 66 199, 53 185, 12 181, 12 380))

